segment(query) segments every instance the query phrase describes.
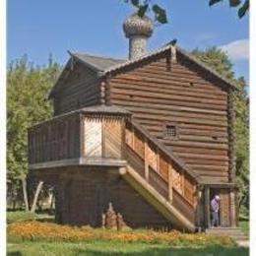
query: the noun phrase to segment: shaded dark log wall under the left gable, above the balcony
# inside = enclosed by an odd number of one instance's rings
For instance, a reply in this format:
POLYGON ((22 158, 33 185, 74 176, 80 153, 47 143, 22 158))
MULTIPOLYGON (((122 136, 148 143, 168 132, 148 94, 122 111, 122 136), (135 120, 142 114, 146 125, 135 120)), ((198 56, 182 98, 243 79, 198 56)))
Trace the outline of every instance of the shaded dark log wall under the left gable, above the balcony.
POLYGON ((63 83, 53 98, 54 115, 100 103, 100 82, 96 72, 84 65, 76 63, 63 83))

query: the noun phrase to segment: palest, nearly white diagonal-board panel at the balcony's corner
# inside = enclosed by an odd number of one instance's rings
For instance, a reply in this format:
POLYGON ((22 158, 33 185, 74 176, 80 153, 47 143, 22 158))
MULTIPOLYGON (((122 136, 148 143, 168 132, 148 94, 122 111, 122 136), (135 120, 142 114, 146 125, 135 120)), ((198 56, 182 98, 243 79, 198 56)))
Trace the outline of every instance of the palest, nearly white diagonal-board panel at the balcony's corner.
POLYGON ((102 155, 102 123, 96 119, 85 119, 84 156, 101 157, 102 155))

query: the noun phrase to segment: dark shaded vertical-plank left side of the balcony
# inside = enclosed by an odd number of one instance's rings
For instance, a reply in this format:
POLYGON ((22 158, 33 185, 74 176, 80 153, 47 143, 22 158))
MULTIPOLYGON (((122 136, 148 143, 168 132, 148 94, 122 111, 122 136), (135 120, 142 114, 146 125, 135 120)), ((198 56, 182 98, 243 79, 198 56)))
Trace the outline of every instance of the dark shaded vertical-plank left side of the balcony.
POLYGON ((79 158, 80 116, 73 113, 29 130, 29 163, 79 158))

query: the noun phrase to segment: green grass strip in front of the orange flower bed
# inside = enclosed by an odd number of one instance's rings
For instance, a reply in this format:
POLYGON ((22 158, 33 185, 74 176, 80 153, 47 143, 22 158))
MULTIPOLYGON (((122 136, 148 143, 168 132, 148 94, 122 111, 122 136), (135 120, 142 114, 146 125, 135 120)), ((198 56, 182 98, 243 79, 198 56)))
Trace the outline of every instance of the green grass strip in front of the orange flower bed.
POLYGON ((173 248, 167 244, 120 243, 120 242, 23 242, 8 245, 10 256, 247 256, 248 248, 208 246, 205 248, 173 248))

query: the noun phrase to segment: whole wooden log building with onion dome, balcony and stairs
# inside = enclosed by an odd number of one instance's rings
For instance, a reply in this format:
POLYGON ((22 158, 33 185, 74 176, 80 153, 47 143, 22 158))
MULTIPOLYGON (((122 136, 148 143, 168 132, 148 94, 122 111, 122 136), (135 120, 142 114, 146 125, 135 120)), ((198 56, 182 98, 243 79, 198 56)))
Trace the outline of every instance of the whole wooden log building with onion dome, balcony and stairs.
POLYGON ((233 91, 174 41, 147 52, 150 18, 123 25, 129 59, 70 53, 29 130, 30 175, 54 186, 56 221, 100 226, 109 203, 131 227, 237 224, 233 91))

